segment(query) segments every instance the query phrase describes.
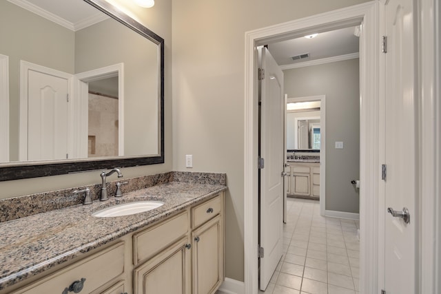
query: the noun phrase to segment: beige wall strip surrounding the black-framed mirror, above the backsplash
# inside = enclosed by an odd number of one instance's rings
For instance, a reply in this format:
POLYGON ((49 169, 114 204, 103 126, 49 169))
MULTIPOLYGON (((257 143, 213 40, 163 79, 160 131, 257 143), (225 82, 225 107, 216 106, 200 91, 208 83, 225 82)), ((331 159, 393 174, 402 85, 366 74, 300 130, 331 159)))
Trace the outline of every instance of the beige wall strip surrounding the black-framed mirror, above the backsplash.
MULTIPOLYGON (((124 0, 119 1, 123 4, 127 3, 124 0)), ((0 3, 4 2, 6 1, 0 1, 0 3)), ((130 11, 143 25, 165 39, 165 163, 124 168, 122 171, 125 178, 172 170, 172 0, 156 1, 154 8, 150 9, 131 6, 130 11)), ((0 182, 0 198, 52 191, 67 187, 79 187, 99 182, 101 182, 99 171, 11 180, 0 182)))

